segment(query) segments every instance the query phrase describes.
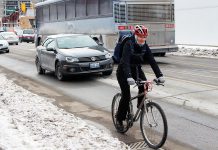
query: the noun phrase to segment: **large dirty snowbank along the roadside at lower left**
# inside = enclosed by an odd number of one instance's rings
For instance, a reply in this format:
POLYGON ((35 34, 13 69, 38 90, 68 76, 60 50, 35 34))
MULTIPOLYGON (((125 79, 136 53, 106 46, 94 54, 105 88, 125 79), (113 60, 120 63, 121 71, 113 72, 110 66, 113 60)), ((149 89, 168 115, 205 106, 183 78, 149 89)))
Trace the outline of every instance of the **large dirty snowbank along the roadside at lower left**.
POLYGON ((51 101, 0 74, 0 149, 130 149, 51 101))

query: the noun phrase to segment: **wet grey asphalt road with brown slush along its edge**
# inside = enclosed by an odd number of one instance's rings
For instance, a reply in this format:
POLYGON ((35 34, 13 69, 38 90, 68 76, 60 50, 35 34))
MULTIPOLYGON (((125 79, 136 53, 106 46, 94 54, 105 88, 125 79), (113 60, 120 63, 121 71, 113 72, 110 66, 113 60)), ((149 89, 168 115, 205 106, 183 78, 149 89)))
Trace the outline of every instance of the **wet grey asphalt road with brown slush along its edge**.
MULTIPOLYGON (((0 71, 7 72, 8 77, 19 85, 34 93, 55 98, 55 104, 59 107, 84 119, 102 124, 103 128, 106 127, 115 137, 126 143, 142 140, 137 125, 125 135, 117 134, 112 125, 110 104, 112 96, 119 91, 119 88, 105 84, 99 79, 115 80, 115 71, 109 77, 91 75, 59 82, 52 73, 47 73, 45 76, 36 74, 33 44, 21 43, 18 46, 11 46, 10 50, 9 54, 0 54, 0 66, 9 70, 0 67, 0 71), (10 70, 21 75, 14 74, 10 70), (46 90, 41 90, 42 87, 46 90)), ((192 93, 191 96, 189 93, 183 98, 205 97, 217 101, 218 66, 216 63, 218 60, 171 55, 156 57, 156 60, 170 85, 164 88, 158 87, 161 91, 167 89, 165 92, 174 94, 203 91, 192 93)), ((147 76, 153 77, 152 70, 147 64, 144 65, 144 69, 147 76)), ((208 115, 191 107, 169 104, 164 99, 157 102, 164 108, 169 124, 169 137, 165 149, 218 149, 216 115, 211 115, 212 113, 208 115)))

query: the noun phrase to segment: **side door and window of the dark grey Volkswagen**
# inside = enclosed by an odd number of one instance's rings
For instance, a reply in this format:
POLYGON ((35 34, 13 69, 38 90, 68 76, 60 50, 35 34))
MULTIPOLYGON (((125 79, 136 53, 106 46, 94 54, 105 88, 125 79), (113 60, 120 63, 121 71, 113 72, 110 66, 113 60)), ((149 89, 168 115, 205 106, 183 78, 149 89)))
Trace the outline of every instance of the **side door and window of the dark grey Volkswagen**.
POLYGON ((50 71, 55 71, 55 58, 56 58, 56 41, 53 39, 51 42, 48 43, 46 47, 46 60, 47 60, 47 65, 48 69, 50 71), (54 51, 49 51, 48 49, 53 49, 54 51))

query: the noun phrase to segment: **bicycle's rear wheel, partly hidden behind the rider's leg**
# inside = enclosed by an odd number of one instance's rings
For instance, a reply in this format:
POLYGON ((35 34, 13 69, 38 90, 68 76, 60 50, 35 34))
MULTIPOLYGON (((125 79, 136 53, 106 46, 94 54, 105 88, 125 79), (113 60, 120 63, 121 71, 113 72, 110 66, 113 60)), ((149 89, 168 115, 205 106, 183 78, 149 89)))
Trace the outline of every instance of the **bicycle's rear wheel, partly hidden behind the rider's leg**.
POLYGON ((117 116, 116 115, 117 115, 117 110, 118 110, 118 106, 119 106, 119 103, 120 103, 121 96, 122 96, 121 93, 117 93, 116 95, 114 95, 113 100, 112 100, 112 105, 111 105, 111 114, 112 114, 113 124, 114 124, 117 132, 125 133, 129 129, 128 123, 125 122, 123 130, 120 130, 117 127, 117 116))

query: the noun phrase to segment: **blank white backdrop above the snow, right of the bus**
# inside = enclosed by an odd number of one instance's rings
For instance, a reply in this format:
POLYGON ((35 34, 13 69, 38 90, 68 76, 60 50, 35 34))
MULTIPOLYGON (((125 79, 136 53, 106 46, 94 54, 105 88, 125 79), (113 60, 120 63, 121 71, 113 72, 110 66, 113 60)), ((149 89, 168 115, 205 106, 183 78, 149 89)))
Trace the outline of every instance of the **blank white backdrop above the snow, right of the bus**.
POLYGON ((177 44, 218 46, 218 0, 175 0, 177 44))

